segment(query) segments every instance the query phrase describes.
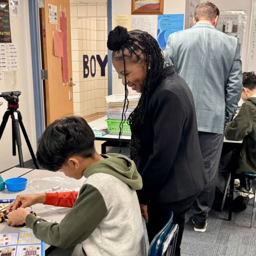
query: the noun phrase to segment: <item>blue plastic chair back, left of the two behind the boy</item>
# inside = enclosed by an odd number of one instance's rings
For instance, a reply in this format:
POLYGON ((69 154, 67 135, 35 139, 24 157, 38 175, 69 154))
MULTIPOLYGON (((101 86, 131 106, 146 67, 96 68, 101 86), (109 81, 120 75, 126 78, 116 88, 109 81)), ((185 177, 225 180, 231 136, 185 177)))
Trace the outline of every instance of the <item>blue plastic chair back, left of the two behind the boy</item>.
POLYGON ((149 250, 148 250, 148 256, 160 256, 160 252, 162 250, 162 244, 166 238, 166 236, 169 234, 170 230, 172 229, 172 219, 173 219, 173 212, 170 213, 170 218, 166 225, 156 234, 154 239, 152 240, 149 250))

